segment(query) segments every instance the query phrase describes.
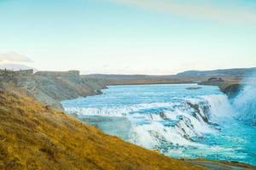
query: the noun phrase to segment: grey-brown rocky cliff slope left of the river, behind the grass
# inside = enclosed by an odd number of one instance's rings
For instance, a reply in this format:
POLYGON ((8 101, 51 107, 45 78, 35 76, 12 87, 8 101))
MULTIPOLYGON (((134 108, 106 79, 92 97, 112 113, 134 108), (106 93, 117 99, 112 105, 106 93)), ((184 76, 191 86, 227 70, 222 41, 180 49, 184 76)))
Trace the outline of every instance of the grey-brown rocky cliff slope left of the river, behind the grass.
MULTIPOLYGON (((12 71, 16 72, 16 71, 12 71)), ((39 71, 35 74, 16 74, 1 76, 0 82, 26 91, 35 99, 62 111, 61 100, 75 99, 80 96, 100 94, 104 88, 100 82, 93 82, 79 76, 79 71, 39 71)))

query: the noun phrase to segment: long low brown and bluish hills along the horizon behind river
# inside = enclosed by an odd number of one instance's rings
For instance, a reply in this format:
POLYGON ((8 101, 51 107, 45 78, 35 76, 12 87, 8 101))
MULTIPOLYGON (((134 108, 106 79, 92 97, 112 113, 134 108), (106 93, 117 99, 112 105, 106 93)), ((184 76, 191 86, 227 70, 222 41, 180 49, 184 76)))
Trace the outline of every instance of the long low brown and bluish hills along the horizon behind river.
POLYGON ((82 77, 101 80, 107 85, 121 84, 170 84, 205 82, 209 77, 222 77, 224 81, 241 80, 245 76, 256 77, 256 67, 223 69, 214 71, 184 71, 177 75, 119 75, 119 74, 91 74, 82 77))

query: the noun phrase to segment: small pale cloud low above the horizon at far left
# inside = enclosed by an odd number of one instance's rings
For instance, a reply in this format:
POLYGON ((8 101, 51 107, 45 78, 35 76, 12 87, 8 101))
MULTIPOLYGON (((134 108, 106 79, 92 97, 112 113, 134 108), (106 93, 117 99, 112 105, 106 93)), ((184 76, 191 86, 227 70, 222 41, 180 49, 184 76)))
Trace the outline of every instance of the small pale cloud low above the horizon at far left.
POLYGON ((0 54, 0 62, 32 62, 32 59, 29 59, 25 55, 17 54, 15 52, 8 52, 5 54, 0 54))

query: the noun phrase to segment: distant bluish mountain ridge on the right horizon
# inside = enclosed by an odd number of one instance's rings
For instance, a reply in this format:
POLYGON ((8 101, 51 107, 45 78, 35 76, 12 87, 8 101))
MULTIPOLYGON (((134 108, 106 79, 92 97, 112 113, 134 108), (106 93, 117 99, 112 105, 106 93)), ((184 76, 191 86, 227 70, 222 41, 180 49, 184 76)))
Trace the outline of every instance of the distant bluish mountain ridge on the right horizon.
POLYGON ((214 71, 184 71, 178 73, 177 76, 186 77, 214 77, 214 76, 232 76, 241 77, 245 75, 253 74, 256 75, 256 67, 253 68, 237 68, 237 69, 223 69, 214 71))

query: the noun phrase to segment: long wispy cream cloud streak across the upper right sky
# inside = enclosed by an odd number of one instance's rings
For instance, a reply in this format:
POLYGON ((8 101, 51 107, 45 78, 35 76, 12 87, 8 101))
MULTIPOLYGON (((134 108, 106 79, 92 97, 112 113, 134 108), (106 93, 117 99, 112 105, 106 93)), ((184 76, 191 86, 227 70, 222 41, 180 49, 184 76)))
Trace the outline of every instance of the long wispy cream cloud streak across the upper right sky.
MULTIPOLYGON (((234 1, 219 5, 212 1, 177 1, 177 0, 111 0, 114 3, 124 3, 137 8, 144 8, 160 13, 176 14, 197 19, 252 22, 256 23, 256 12, 250 8, 241 7, 234 1), (202 3, 204 2, 204 3, 202 3)), ((226 1, 227 2, 227 1, 226 1)))

